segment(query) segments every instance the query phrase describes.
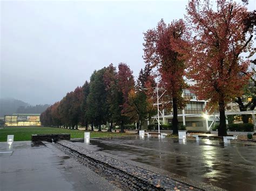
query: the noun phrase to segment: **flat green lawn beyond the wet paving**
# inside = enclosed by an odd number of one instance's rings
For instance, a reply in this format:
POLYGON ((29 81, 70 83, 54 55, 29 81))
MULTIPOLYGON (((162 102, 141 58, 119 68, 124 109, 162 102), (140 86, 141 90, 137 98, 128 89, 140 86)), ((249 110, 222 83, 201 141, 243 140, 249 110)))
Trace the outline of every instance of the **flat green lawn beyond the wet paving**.
MULTIPOLYGON (((90 131, 91 132, 91 131, 90 131)), ((33 134, 52 134, 52 133, 68 133, 71 138, 84 138, 84 131, 70 130, 48 127, 19 127, 19 128, 4 128, 0 129, 0 142, 6 142, 7 135, 14 135, 14 140, 31 140, 33 134)), ((90 133, 90 137, 114 137, 114 136, 129 136, 129 133, 114 133, 114 132, 97 132, 90 133)))

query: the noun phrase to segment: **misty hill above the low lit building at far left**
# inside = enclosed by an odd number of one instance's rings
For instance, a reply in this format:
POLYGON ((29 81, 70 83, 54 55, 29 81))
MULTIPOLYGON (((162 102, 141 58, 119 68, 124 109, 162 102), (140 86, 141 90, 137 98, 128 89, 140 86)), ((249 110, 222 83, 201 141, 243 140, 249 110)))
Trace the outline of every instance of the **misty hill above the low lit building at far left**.
POLYGON ((1 98, 0 99, 0 117, 11 114, 41 114, 50 105, 30 105, 21 100, 15 100, 14 98, 1 98))

